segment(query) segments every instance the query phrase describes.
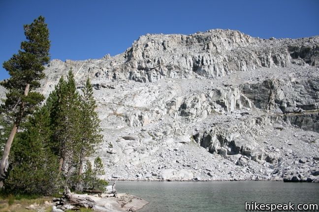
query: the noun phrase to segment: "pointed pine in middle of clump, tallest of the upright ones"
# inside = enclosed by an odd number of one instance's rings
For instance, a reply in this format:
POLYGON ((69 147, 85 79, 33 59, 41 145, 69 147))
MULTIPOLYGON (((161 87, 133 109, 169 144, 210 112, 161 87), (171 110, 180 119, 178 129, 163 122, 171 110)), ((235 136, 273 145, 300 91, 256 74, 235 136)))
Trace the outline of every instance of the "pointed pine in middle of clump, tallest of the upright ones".
POLYGON ((47 100, 46 106, 50 111, 53 127, 51 147, 59 156, 59 172, 67 176, 70 168, 77 163, 76 146, 80 142, 80 99, 75 87, 72 71, 68 73, 68 80, 60 79, 54 92, 47 100))

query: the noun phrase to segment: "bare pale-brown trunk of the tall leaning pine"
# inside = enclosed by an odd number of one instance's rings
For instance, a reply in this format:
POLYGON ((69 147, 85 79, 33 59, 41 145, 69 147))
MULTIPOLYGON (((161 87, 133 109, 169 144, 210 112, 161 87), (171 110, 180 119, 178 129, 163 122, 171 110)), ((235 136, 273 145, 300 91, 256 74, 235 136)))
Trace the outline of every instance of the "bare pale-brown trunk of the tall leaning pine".
MULTIPOLYGON (((24 91, 24 95, 25 96, 28 96, 29 89, 30 89, 30 84, 27 84, 26 88, 25 88, 25 91, 24 91)), ((16 117, 16 121, 13 124, 12 130, 10 132, 10 135, 9 135, 8 140, 7 140, 7 142, 5 144, 5 147, 4 147, 4 151, 3 151, 3 155, 2 155, 2 159, 1 159, 1 163, 0 163, 0 188, 3 185, 2 181, 5 178, 5 172, 6 172, 6 169, 7 169, 8 165, 9 165, 8 159, 9 159, 11 145, 12 145, 14 136, 15 136, 15 134, 18 131, 20 122, 22 120, 24 109, 25 109, 25 105, 26 105, 25 102, 21 103, 21 106, 20 106, 20 109, 19 109, 19 113, 18 113, 18 115, 16 117)))

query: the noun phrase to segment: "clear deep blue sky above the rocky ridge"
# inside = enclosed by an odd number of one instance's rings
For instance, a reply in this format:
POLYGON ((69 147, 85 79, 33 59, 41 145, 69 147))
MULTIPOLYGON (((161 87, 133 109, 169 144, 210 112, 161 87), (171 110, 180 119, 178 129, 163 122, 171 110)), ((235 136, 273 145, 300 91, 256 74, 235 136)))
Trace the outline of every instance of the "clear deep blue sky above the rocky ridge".
POLYGON ((42 15, 51 59, 83 60, 124 52, 146 33, 237 29, 254 37, 319 35, 319 0, 0 0, 2 63, 20 49, 23 25, 42 15))

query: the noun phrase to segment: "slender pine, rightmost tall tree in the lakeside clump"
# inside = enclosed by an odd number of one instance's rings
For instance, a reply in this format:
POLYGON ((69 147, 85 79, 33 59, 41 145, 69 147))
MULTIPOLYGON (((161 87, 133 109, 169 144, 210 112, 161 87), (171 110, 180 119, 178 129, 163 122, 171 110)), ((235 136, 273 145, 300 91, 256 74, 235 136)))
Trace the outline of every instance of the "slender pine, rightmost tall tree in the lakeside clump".
POLYGON ((82 129, 85 130, 81 133, 81 140, 77 145, 77 151, 79 153, 79 176, 82 174, 82 167, 85 158, 92 156, 96 150, 96 145, 103 139, 100 129, 100 120, 96 112, 97 105, 93 95, 93 87, 89 78, 87 79, 82 92, 81 126, 82 129))

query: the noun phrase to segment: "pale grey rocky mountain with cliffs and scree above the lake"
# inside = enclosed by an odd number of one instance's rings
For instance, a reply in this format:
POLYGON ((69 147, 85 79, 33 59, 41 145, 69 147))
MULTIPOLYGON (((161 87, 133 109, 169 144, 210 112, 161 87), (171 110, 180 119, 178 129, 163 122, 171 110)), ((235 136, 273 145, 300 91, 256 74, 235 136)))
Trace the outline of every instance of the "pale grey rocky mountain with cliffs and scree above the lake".
POLYGON ((105 179, 319 179, 319 36, 147 34, 113 57, 52 60, 41 92, 70 69, 95 86, 105 179))

